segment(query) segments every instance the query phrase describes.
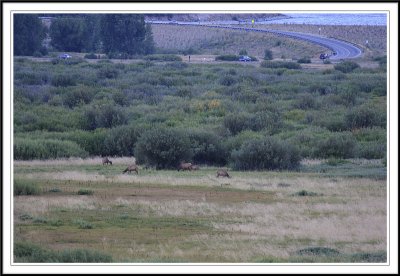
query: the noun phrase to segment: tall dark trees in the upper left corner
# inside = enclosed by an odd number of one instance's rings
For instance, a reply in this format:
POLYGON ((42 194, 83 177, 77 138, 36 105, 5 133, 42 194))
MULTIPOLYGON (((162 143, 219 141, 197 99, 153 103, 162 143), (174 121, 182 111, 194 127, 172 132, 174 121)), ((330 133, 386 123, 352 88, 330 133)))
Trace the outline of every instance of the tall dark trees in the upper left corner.
POLYGON ((151 26, 141 14, 58 15, 49 28, 38 14, 14 15, 14 55, 45 55, 46 37, 57 51, 125 57, 154 52, 151 26))

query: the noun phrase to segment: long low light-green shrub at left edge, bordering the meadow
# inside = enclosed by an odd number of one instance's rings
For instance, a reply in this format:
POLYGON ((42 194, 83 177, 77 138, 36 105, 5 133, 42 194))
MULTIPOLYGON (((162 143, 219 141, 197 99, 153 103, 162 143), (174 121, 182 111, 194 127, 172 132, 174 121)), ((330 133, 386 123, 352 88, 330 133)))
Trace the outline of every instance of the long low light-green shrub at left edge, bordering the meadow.
POLYGON ((27 138, 14 140, 15 160, 55 159, 71 156, 87 157, 88 153, 72 141, 27 138))

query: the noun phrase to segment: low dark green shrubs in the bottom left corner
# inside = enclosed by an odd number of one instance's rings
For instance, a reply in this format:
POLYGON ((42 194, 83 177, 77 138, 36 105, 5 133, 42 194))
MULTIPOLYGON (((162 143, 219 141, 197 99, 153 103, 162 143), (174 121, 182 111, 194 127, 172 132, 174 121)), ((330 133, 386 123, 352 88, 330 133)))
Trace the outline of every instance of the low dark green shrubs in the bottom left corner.
POLYGON ((29 242, 14 243, 16 263, 110 263, 110 255, 86 249, 52 251, 29 242))

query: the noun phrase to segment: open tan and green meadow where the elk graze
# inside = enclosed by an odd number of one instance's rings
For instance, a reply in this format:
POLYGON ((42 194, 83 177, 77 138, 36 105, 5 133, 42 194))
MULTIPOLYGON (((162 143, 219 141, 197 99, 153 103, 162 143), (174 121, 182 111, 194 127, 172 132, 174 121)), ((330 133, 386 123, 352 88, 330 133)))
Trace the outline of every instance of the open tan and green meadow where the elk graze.
POLYGON ((122 174, 132 159, 112 160, 14 162, 14 192, 33 191, 14 195, 14 244, 28 248, 16 262, 40 262, 30 248, 123 263, 386 262, 381 160, 304 160, 230 179, 216 167, 122 174))

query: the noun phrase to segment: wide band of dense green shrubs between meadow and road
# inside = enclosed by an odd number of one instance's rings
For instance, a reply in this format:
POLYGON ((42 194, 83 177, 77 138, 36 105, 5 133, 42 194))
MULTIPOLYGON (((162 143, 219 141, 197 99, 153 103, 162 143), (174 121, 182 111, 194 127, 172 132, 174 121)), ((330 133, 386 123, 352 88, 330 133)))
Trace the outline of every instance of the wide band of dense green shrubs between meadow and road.
POLYGON ((270 62, 17 58, 14 157, 135 156, 158 168, 188 161, 243 170, 384 158, 385 67, 356 65, 310 72, 270 62))

